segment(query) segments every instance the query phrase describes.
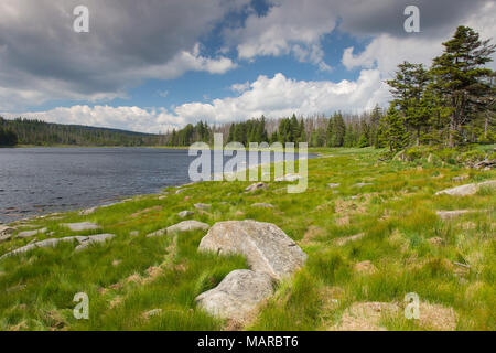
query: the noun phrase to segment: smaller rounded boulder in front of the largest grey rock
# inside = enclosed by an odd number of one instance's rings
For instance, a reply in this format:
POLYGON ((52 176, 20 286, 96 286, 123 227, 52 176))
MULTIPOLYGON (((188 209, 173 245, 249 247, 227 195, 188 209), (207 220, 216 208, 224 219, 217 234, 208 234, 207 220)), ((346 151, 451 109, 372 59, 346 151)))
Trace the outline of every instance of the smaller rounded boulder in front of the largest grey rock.
POLYGON ((260 301, 272 293, 273 280, 269 275, 238 269, 195 300, 198 307, 212 315, 242 321, 260 301))

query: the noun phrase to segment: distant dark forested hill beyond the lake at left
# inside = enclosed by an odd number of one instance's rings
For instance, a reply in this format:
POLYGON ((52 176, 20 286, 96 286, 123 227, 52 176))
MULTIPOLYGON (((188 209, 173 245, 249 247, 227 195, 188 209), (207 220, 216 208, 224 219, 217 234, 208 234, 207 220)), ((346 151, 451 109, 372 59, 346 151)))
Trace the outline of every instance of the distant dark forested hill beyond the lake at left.
POLYGON ((53 146, 157 146, 161 136, 79 125, 0 117, 0 130, 17 135, 19 145, 53 146))

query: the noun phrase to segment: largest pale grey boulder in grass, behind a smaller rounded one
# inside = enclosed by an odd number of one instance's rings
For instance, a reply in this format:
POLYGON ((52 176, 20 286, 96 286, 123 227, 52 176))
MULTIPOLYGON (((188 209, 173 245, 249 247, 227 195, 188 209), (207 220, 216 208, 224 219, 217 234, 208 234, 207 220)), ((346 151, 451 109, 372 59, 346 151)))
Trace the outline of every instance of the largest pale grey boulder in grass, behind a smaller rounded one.
POLYGON ((254 271, 280 280, 303 266, 306 254, 277 225, 256 221, 216 223, 200 243, 200 250, 241 254, 254 271))

